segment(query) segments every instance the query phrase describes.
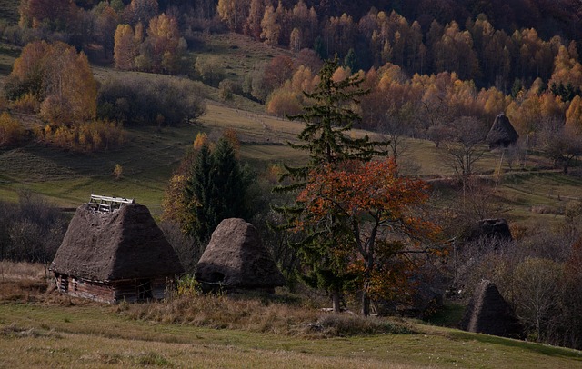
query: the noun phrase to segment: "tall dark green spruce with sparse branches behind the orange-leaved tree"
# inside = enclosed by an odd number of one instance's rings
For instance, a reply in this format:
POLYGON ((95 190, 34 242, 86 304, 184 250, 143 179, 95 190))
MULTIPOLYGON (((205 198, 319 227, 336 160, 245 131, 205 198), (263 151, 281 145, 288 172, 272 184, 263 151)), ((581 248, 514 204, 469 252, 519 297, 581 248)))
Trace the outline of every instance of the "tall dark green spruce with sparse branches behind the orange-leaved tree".
MULTIPOLYGON (((305 107, 305 113, 288 116, 305 123, 297 136, 298 143, 289 143, 296 150, 309 155, 306 165, 290 167, 282 178, 295 180, 294 184, 276 188, 279 192, 292 192, 305 186, 307 175, 320 165, 336 165, 347 160, 368 161, 374 155, 386 155, 386 143, 374 142, 365 135, 355 138, 350 134, 353 126, 361 120, 355 107, 358 97, 368 91, 361 88, 364 77, 351 75, 336 81, 337 57, 328 60, 319 72, 320 82, 313 93, 304 93, 313 104, 305 107)), ((291 227, 304 204, 296 202, 278 210, 285 214, 286 225, 291 227)), ((306 229, 303 240, 294 246, 303 261, 300 278, 312 286, 325 288, 331 295, 334 311, 340 310, 340 299, 344 284, 352 279, 346 272, 346 254, 341 252, 342 239, 346 232, 344 222, 329 217, 326 222, 306 229)))

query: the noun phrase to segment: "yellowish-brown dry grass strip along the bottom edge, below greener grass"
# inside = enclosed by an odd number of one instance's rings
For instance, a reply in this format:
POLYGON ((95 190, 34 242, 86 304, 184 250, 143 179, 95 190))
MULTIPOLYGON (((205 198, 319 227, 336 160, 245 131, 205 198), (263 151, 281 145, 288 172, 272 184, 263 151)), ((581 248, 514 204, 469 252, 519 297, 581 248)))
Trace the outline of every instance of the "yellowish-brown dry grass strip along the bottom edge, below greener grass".
MULTIPOLYGON (((143 342, 85 334, 0 336, 5 367, 382 368, 377 358, 264 350, 236 344, 143 342), (8 348, 12 346, 12 348, 8 348)), ((417 365, 390 364, 393 368, 417 365)))

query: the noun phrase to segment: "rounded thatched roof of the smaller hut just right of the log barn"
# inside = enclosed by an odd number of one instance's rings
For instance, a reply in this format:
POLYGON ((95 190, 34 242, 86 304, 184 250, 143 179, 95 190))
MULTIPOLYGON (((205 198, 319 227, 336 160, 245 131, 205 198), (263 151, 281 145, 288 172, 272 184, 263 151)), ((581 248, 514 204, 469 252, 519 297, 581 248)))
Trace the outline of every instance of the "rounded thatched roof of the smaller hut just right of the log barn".
POLYGON ((196 265, 196 279, 236 288, 273 288, 285 284, 255 226, 237 218, 218 224, 196 265))

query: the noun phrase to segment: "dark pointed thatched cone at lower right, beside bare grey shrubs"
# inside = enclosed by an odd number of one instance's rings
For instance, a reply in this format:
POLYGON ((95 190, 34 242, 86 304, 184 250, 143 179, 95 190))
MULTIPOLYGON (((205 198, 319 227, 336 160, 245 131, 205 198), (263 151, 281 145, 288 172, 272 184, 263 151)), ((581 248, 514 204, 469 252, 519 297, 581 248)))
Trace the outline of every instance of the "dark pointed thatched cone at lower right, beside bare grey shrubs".
POLYGON ((467 332, 520 338, 523 328, 497 286, 483 280, 477 284, 460 328, 467 332))

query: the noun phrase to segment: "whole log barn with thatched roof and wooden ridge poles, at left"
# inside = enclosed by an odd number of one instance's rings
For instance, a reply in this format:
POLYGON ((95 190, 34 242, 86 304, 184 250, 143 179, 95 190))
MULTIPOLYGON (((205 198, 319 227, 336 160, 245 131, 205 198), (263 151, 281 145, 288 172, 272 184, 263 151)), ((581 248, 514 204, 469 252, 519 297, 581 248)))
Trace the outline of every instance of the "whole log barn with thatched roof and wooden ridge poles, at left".
POLYGON ((164 298, 184 272, 174 249, 146 206, 115 207, 76 210, 50 266, 58 291, 110 304, 164 298))

